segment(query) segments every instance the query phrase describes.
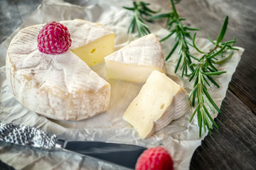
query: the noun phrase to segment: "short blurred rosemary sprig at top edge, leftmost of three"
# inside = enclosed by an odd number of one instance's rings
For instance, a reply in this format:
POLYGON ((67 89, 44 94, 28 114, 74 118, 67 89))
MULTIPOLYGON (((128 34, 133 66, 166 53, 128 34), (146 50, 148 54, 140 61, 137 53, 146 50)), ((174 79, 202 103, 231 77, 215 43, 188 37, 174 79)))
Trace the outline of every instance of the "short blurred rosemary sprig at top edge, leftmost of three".
POLYGON ((133 1, 133 5, 134 7, 132 8, 123 6, 123 8, 134 11, 134 17, 132 18, 127 33, 130 31, 134 33, 135 28, 137 28, 139 37, 142 37, 150 33, 149 26, 146 25, 145 21, 151 22, 149 17, 152 16, 152 13, 158 13, 159 11, 151 10, 148 7, 150 4, 144 1, 139 1, 138 3, 133 1))

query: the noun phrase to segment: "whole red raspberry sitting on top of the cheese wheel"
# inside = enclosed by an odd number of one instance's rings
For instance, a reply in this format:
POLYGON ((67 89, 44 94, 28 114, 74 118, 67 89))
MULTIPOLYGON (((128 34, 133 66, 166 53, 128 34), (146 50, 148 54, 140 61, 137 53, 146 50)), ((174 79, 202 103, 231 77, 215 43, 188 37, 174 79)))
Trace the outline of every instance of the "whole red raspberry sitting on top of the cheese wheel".
POLYGON ((38 34, 38 50, 46 54, 61 54, 71 45, 68 28, 62 23, 52 21, 46 23, 38 34))

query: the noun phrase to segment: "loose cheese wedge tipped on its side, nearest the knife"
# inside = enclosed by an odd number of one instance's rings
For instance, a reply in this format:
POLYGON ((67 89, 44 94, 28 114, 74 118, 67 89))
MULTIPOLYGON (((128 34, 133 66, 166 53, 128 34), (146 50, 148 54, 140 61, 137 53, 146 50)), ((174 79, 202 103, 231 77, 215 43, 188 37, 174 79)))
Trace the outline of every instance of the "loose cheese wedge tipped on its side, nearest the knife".
POLYGON ((164 73, 154 71, 130 103, 123 119, 144 139, 189 111, 186 91, 164 73))

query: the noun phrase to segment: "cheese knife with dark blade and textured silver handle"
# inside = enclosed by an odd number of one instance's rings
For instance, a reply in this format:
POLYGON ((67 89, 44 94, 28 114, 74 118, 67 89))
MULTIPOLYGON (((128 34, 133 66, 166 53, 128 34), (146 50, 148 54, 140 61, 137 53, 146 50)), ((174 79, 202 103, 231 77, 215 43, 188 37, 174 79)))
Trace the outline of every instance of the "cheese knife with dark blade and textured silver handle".
POLYGON ((137 159, 146 149, 114 142, 68 141, 38 128, 13 123, 0 123, 0 141, 39 149, 62 149, 129 169, 135 169, 137 159))

